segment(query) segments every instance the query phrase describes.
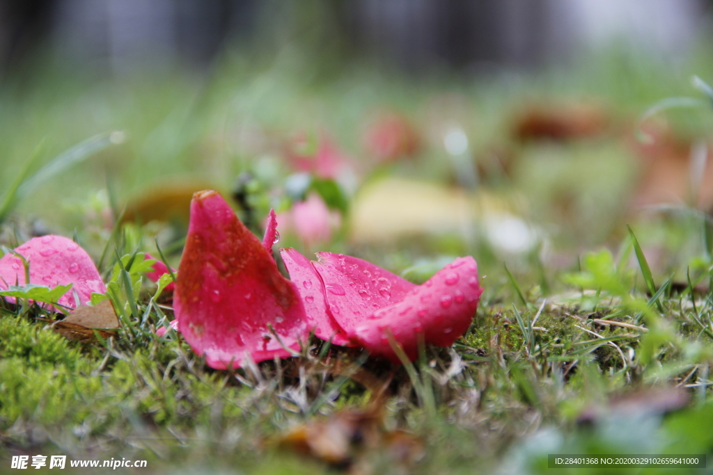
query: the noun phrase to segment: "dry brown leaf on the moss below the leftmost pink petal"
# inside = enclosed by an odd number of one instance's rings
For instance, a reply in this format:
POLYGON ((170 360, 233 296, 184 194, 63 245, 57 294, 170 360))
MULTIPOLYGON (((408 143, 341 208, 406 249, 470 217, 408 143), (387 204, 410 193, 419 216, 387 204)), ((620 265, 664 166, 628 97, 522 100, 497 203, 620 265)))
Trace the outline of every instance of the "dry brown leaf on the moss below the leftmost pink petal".
POLYGON ((97 303, 96 306, 81 305, 64 320, 53 325, 56 332, 70 340, 91 341, 96 331, 102 338, 116 335, 111 328, 119 328, 116 311, 109 299, 97 303))

